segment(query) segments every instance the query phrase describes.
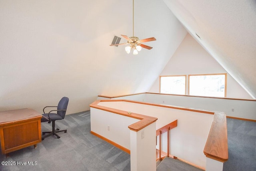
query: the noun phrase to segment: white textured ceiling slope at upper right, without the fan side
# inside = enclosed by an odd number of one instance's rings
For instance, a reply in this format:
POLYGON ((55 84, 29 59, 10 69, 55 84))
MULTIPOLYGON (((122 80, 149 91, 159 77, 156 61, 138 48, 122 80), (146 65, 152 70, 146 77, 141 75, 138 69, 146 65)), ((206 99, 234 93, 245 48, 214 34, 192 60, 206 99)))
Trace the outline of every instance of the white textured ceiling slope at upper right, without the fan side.
POLYGON ((186 30, 255 98, 256 1, 163 1, 186 30))

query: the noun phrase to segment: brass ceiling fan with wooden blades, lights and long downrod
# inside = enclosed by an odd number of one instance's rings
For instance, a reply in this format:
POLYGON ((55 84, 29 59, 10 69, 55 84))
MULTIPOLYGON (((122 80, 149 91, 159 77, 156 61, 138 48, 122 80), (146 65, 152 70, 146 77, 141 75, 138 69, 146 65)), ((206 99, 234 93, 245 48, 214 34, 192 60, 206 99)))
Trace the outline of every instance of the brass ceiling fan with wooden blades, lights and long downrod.
POLYGON ((133 33, 133 36, 130 38, 126 35, 121 34, 121 36, 127 40, 127 43, 111 44, 110 46, 129 44, 129 46, 125 47, 125 51, 127 54, 129 54, 131 52, 131 50, 133 49, 134 55, 138 54, 138 51, 140 51, 142 48, 145 48, 148 50, 152 49, 152 47, 144 45, 142 43, 154 41, 154 40, 156 40, 156 38, 152 37, 152 38, 146 38, 146 39, 140 40, 138 37, 134 36, 134 0, 132 0, 132 33, 133 33))

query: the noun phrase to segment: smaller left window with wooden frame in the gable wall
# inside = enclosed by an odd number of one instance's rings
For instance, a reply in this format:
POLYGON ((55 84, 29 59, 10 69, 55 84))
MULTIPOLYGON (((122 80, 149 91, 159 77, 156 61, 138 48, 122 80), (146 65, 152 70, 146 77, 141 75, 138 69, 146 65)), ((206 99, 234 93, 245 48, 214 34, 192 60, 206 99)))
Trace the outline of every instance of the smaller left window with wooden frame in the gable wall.
POLYGON ((186 94, 185 76, 160 76, 160 93, 186 94))

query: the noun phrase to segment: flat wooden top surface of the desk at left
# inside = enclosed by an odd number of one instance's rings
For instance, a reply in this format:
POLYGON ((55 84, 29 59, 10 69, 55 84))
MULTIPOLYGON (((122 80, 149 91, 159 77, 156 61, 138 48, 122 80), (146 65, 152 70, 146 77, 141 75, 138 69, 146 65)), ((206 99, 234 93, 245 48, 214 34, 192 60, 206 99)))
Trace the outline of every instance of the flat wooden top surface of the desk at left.
POLYGON ((42 114, 28 108, 0 111, 0 124, 31 119, 33 117, 42 117, 42 114))

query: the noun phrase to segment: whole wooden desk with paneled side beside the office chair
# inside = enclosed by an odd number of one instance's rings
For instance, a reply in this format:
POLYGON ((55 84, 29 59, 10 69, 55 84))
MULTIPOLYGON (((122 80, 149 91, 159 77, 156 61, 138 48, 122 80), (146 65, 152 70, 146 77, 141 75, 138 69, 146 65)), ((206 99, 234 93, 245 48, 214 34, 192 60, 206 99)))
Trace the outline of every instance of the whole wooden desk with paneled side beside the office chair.
POLYGON ((0 112, 0 142, 2 154, 34 145, 41 139, 42 115, 33 109, 0 112))

